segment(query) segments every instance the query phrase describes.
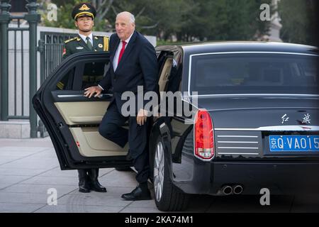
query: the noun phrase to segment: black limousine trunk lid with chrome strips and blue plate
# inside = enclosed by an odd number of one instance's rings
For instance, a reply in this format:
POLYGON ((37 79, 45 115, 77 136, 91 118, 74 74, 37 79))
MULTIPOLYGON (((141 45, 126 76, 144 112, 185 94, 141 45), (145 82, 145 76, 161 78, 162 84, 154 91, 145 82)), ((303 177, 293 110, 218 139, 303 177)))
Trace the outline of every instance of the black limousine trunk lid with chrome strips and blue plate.
POLYGON ((198 96, 198 107, 211 114, 216 158, 319 156, 319 109, 314 95, 198 96))

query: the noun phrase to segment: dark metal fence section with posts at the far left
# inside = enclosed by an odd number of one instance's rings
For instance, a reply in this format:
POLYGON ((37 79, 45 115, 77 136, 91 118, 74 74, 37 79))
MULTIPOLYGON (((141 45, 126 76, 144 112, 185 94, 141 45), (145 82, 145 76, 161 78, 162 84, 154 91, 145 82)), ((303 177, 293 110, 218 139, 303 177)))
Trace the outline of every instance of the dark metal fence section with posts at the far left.
MULTIPOLYGON (((13 16, 10 13, 11 5, 10 0, 0 0, 0 49, 1 49, 1 101, 0 101, 0 121, 8 121, 10 118, 13 119, 30 119, 30 137, 37 137, 37 116, 35 110, 32 106, 32 98, 36 92, 37 84, 37 26, 40 21, 40 14, 37 12, 39 4, 36 0, 27 0, 26 8, 28 13, 22 16, 13 16), (21 20, 27 21, 28 26, 20 26, 21 20), (11 21, 16 21, 17 26, 10 26, 11 21), (21 40, 11 40, 9 39, 10 33, 21 33, 21 40), (24 40, 23 32, 28 32, 28 42, 24 40), (9 60, 9 41, 13 42, 13 59, 9 60), (18 55, 17 47, 20 45, 21 54, 18 55), (24 57, 24 45, 28 45, 28 57, 24 57), (20 63, 18 63, 20 59, 20 63), (29 70, 28 72, 23 72, 24 64, 28 60, 29 70), (14 62, 14 67, 13 67, 14 62), (9 67, 9 64, 11 67, 9 67), (18 64, 20 67, 18 67, 18 64), (9 88, 9 70, 10 79, 14 77, 13 82, 11 80, 11 87, 9 88), (22 71, 22 74, 18 76, 18 71, 22 71), (13 74, 13 76, 12 76, 13 74), (29 84, 23 84, 24 76, 28 75, 30 77, 29 84), (18 83, 19 81, 19 83, 18 83), (11 89, 13 87, 13 89, 11 89), (26 91, 28 88, 28 92, 26 91), (11 93, 9 93, 11 92, 11 93), (13 93, 12 93, 13 92, 13 93), (18 93, 20 92, 20 93, 18 93), (12 98, 13 95, 13 98, 12 98), (10 106, 9 111, 9 97, 10 102, 13 103, 10 106), (23 100, 23 97, 28 97, 28 113, 24 109, 23 105, 26 100, 23 100), (13 99, 13 100, 12 100, 13 99), (22 99, 23 101, 21 102, 22 99), (19 102, 18 102, 19 101, 19 102), (21 105, 21 106, 20 106, 21 105), (11 110, 13 109, 13 110, 11 110)), ((26 35, 27 36, 27 35, 26 35)))

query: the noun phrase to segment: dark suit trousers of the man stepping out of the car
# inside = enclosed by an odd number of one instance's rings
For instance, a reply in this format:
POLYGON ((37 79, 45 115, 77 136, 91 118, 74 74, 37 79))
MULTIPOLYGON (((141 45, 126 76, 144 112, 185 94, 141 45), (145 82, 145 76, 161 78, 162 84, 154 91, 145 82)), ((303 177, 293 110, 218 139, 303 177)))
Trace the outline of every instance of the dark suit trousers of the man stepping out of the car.
POLYGON ((147 123, 139 126, 136 122, 136 116, 123 116, 116 106, 116 100, 113 100, 103 116, 99 126, 99 133, 106 139, 121 146, 126 143, 129 145, 130 156, 133 157, 133 165, 138 171, 136 180, 139 183, 147 182, 150 176, 149 154, 147 148, 147 123), (123 128, 128 121, 129 129, 123 128))

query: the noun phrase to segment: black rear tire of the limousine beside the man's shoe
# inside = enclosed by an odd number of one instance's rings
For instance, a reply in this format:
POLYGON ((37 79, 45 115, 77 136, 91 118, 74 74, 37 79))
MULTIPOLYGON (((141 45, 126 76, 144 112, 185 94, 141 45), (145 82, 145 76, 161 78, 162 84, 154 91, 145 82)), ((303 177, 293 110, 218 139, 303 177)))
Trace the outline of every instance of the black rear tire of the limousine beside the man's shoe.
POLYGON ((156 143, 155 143, 155 149, 152 153, 152 178, 153 178, 153 192, 155 197, 155 204, 157 206, 157 209, 160 211, 183 211, 187 209, 187 206, 189 204, 189 194, 185 194, 184 192, 181 192, 180 189, 177 189, 177 187, 174 186, 172 183, 171 178, 169 177, 169 163, 167 160, 167 150, 164 147, 164 143, 162 141, 162 137, 159 135, 156 143), (164 180, 162 185, 162 196, 160 196, 160 199, 157 200, 157 192, 155 190, 155 157, 157 155, 157 145, 159 143, 162 143, 163 150, 163 160, 164 160, 164 180))

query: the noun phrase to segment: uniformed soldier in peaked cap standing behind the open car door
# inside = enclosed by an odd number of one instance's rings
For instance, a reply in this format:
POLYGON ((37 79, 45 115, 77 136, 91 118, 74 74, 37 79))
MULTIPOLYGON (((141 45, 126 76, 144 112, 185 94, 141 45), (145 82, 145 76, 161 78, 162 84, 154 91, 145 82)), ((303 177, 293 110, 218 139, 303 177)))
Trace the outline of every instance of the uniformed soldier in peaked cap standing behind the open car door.
MULTIPOLYGON (((94 26, 94 17, 96 9, 89 3, 82 3, 74 6, 72 18, 75 20, 75 26, 79 28, 79 35, 65 41, 62 58, 77 52, 88 51, 108 51, 108 36, 98 36, 92 34, 94 26)), ((103 77, 104 63, 89 63, 84 68, 83 82, 89 83, 91 78, 99 81, 103 77)), ((73 78, 73 77, 72 77, 73 78)), ((65 89, 67 82, 59 82, 57 87, 65 89)), ((88 85, 90 86, 90 85, 88 85)), ((79 172, 79 192, 106 192, 106 188, 101 186, 98 181, 99 169, 77 170, 79 172)))

